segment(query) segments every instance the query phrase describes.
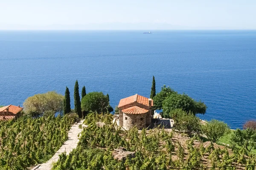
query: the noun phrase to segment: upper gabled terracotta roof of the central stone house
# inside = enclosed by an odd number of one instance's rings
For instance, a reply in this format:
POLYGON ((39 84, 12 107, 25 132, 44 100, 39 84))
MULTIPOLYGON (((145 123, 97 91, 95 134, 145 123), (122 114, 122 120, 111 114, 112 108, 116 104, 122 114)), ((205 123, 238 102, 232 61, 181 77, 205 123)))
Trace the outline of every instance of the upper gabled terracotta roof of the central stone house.
MULTIPOLYGON (((125 105, 128 105, 128 104, 131 104, 131 103, 134 103, 134 102, 140 103, 142 105, 149 106, 148 100, 149 99, 147 97, 135 94, 133 96, 121 99, 120 102, 119 102, 118 108, 122 107, 122 106, 125 106, 125 105)), ((153 106, 153 100, 152 99, 151 99, 151 106, 153 106)))

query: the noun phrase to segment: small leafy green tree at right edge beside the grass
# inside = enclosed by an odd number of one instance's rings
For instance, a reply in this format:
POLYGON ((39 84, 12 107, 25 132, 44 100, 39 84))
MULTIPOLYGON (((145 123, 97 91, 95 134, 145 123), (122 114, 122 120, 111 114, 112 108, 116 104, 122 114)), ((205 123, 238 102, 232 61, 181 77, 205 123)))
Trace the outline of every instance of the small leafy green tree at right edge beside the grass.
POLYGON ((247 128, 245 130, 236 129, 231 136, 231 143, 239 147, 244 147, 249 152, 256 147, 256 130, 247 128))

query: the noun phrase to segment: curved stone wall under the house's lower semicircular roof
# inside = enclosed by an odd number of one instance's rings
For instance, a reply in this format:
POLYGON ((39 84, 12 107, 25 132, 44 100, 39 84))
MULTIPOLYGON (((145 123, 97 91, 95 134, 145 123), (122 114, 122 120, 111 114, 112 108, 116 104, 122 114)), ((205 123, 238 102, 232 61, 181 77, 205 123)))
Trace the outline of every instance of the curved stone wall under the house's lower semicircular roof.
POLYGON ((131 127, 137 126, 138 129, 146 127, 146 115, 143 114, 125 114, 123 113, 123 128, 128 130, 131 127))

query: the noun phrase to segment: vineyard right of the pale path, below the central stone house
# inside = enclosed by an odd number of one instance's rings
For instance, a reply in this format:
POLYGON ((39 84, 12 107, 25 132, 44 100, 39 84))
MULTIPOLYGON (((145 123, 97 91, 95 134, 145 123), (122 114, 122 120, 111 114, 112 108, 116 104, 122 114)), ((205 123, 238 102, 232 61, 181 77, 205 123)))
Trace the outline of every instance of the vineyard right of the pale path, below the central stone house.
MULTIPOLYGON (((121 130, 114 127, 111 115, 89 114, 85 122, 89 125, 80 137, 79 144, 69 155, 60 155, 53 170, 152 170, 183 167, 226 167, 255 165, 256 156, 244 148, 230 148, 202 142, 197 136, 188 138, 164 128, 152 130, 121 130), (97 122, 104 122, 99 126, 97 122), (116 160, 113 150, 124 147, 134 156, 116 160)), ((241 167, 240 167, 241 168, 241 167)), ((247 167, 253 170, 255 167, 247 167)), ((237 167, 239 169, 239 167, 237 167)))

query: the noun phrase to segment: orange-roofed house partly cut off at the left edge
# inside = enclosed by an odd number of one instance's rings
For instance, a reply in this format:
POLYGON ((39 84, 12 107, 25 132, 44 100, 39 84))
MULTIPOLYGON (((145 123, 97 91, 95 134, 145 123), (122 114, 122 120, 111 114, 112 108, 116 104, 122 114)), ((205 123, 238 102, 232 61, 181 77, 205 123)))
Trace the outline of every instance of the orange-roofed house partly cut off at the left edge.
POLYGON ((20 116, 20 112, 23 108, 20 105, 8 105, 0 108, 0 120, 12 120, 17 119, 20 116))

